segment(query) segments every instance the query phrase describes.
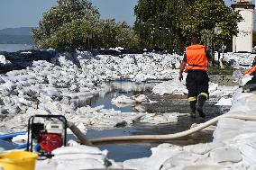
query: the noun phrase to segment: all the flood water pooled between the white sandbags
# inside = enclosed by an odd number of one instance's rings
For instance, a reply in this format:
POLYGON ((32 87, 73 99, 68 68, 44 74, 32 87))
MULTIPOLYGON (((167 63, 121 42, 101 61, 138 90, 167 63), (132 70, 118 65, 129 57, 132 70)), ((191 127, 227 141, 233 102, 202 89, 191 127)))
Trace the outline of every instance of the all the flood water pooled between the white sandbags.
MULTIPOLYGON (((113 98, 119 95, 133 96, 135 94, 147 94, 151 100, 158 101, 158 103, 145 104, 147 112, 181 112, 188 113, 189 105, 186 97, 184 98, 172 98, 169 96, 158 96, 151 94, 150 84, 137 85, 135 83, 127 82, 115 82, 111 84, 112 88, 105 95, 98 94, 86 103, 80 103, 82 105, 91 105, 96 107, 99 105, 105 105, 105 109, 114 109, 121 112, 138 112, 134 106, 117 107, 111 103, 113 98)), ((229 110, 229 107, 215 106, 214 100, 206 103, 206 119, 191 119, 189 116, 179 117, 177 123, 168 123, 160 125, 152 125, 145 123, 137 123, 131 127, 117 128, 113 130, 87 130, 87 139, 99 139, 104 137, 114 136, 131 136, 131 135, 163 135, 172 134, 180 131, 190 129, 193 123, 202 123, 210 120, 218 115, 223 114, 229 110)), ((69 135, 69 139, 75 139, 74 136, 69 135)), ((109 151, 108 157, 114 159, 116 162, 121 162, 127 159, 150 157, 151 148, 157 147, 161 143, 171 143, 179 146, 210 142, 213 139, 212 132, 198 132, 188 137, 170 140, 170 141, 143 141, 137 143, 106 143, 98 145, 101 149, 107 149, 109 151)), ((0 147, 11 149, 14 146, 0 142, 0 147)))

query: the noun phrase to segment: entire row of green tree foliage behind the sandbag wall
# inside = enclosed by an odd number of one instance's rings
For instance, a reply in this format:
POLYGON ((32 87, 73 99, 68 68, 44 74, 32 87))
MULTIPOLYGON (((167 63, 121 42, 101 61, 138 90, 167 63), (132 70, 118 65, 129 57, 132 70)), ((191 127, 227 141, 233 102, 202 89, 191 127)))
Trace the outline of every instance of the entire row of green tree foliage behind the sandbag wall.
POLYGON ((101 20, 88 0, 58 0, 43 14, 32 37, 40 48, 183 49, 192 36, 206 44, 230 42, 242 17, 223 0, 139 0, 133 29, 125 22, 101 20), (215 27, 222 28, 215 35, 215 27))

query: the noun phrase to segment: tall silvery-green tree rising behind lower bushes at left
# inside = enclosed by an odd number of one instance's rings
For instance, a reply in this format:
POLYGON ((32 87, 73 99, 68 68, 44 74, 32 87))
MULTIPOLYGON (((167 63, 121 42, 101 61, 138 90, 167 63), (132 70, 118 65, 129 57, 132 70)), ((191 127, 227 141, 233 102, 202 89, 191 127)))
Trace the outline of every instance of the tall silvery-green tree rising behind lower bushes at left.
POLYGON ((52 42, 53 37, 56 37, 59 32, 67 31, 67 24, 78 25, 80 22, 79 24, 83 25, 85 21, 88 24, 94 24, 99 21, 99 17, 96 7, 87 0, 58 0, 56 6, 43 14, 39 28, 32 30, 32 38, 39 47, 45 48, 50 45, 46 42, 52 42))

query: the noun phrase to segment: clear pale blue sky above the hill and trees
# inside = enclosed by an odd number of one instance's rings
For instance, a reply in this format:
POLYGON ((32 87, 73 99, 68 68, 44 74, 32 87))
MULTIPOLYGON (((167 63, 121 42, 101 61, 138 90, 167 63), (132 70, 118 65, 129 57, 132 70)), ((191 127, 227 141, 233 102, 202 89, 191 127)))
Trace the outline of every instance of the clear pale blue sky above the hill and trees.
MULTIPOLYGON (((91 0, 103 19, 133 25, 133 7, 138 0, 91 0)), ((225 0, 230 4, 230 0, 225 0)), ((37 27, 42 14, 57 4, 57 0, 0 0, 0 29, 37 27)))

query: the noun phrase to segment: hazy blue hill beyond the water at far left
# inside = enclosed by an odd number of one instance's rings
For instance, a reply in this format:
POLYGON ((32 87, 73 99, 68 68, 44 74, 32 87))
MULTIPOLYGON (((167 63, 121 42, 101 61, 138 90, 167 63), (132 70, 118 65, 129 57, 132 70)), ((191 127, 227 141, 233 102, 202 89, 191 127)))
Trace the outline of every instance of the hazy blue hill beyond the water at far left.
POLYGON ((31 31, 32 27, 0 30, 0 44, 33 44, 31 31))

